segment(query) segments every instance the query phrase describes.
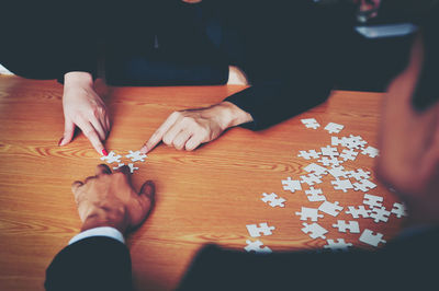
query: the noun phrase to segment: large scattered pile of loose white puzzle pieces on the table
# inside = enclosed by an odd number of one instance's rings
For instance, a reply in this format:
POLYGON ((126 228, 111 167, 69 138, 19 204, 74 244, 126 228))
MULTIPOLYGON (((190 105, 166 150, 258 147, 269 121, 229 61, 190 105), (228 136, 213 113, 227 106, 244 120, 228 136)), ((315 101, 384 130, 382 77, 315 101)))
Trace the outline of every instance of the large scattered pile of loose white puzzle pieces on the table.
MULTIPOLYGON (((320 125, 314 118, 301 120, 306 128, 317 129, 320 125)), ((325 128, 329 133, 339 133, 342 129, 342 125, 329 123, 325 128)), ((302 175, 296 179, 286 177, 282 179, 282 186, 285 191, 295 193, 304 190, 307 199, 311 202, 319 202, 318 207, 308 208, 302 207, 301 211, 295 212, 300 217, 301 221, 309 221, 311 223, 303 222, 302 232, 308 234, 311 238, 326 240, 326 234, 329 232, 317 223, 319 219, 323 219, 325 214, 337 217, 344 209, 345 213, 350 214, 352 220, 348 222, 345 220, 337 220, 337 223, 333 224, 334 229, 337 229, 339 233, 361 233, 359 241, 378 247, 380 243, 386 243, 383 240, 382 233, 374 233, 372 230, 364 229, 362 232, 357 219, 360 217, 363 219, 372 219, 375 223, 387 222, 390 216, 394 214, 396 218, 406 217, 406 208, 404 203, 395 202, 392 209, 386 209, 383 206, 384 198, 381 196, 370 195, 367 191, 376 187, 371 181, 371 173, 362 168, 356 168, 347 171, 342 166, 346 161, 356 161, 358 154, 364 154, 370 158, 376 158, 379 150, 367 146, 368 142, 360 136, 349 137, 331 137, 331 144, 320 148, 319 150, 300 151, 297 156, 309 160, 311 163, 303 170, 308 173, 302 175), (341 147, 341 151, 339 148, 341 147), (323 183, 325 177, 330 178, 331 185, 335 190, 347 193, 352 189, 354 191, 362 191, 363 205, 360 206, 340 206, 338 201, 328 201, 323 190, 317 187, 318 184, 323 183), (305 189, 305 187, 307 189, 305 189)), ((279 197, 277 194, 263 193, 260 198, 268 206, 285 207, 286 199, 279 197)), ((259 226, 256 224, 247 225, 248 233, 251 237, 259 237, 261 235, 271 235, 271 231, 275 230, 274 226, 269 226, 267 222, 260 223, 259 226)), ((260 254, 268 254, 272 251, 268 246, 263 246, 263 243, 259 240, 246 241, 247 252, 255 252, 260 254), (263 247, 262 247, 263 246, 263 247)), ((352 243, 348 243, 345 238, 327 240, 327 244, 324 248, 331 251, 347 251, 352 246, 352 243)))

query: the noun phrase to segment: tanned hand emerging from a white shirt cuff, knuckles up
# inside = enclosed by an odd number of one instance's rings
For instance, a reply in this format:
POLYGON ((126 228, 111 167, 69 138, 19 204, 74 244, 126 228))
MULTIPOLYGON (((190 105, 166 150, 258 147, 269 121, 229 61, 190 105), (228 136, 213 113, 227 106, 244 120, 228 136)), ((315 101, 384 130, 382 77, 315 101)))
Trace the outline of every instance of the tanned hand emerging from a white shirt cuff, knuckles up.
POLYGON ((138 226, 154 206, 154 183, 146 182, 136 193, 126 165, 114 174, 105 164, 98 165, 95 176, 74 182, 71 190, 82 221, 81 231, 112 226, 125 233, 138 226))

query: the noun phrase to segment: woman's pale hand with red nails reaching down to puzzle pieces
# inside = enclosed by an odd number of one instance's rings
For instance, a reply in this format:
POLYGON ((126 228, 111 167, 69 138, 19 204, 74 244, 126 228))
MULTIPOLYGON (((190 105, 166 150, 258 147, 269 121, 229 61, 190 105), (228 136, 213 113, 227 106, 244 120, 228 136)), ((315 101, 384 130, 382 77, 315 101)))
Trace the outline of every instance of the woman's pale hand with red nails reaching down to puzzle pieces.
POLYGON ((110 119, 105 104, 94 92, 91 74, 87 72, 65 74, 63 108, 65 129, 59 146, 71 141, 75 127, 78 126, 93 148, 100 154, 106 155, 102 141, 110 132, 110 119))

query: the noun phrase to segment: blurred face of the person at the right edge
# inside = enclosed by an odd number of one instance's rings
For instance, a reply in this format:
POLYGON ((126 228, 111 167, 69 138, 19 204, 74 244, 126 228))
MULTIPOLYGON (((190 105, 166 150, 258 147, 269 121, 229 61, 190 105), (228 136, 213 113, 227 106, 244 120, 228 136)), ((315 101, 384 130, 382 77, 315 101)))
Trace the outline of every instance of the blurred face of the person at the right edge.
POLYGON ((407 69, 387 89, 376 165, 379 177, 407 202, 415 223, 439 221, 439 103, 425 112, 412 105, 423 58, 418 38, 407 69))

